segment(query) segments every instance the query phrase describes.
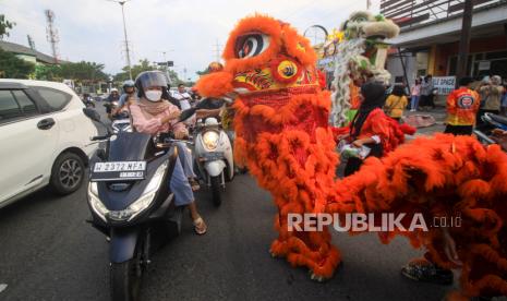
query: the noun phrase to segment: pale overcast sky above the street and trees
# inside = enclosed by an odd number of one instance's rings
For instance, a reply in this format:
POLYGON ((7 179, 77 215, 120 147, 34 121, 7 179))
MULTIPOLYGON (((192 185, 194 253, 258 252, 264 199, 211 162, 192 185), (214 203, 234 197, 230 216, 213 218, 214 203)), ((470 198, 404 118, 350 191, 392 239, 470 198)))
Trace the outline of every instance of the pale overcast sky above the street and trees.
MULTIPOLYGON (((372 0, 378 11, 379 0, 372 0)), ((241 17, 259 12, 291 23, 301 33, 318 24, 336 28, 366 0, 131 0, 125 4, 132 61, 147 58, 174 61, 183 77, 195 79, 216 58, 229 32, 241 17)), ((108 73, 125 65, 121 9, 107 0, 0 0, 0 13, 16 23, 8 41, 27 46, 31 35, 37 50, 51 53, 46 39, 44 11, 55 12, 60 58, 104 63, 108 73)))

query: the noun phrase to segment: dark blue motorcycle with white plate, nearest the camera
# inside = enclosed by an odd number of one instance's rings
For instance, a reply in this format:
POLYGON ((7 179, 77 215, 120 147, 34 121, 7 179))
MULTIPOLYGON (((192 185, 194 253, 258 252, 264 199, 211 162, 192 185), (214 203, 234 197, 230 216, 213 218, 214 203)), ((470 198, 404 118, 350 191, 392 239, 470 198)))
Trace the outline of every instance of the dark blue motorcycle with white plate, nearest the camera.
MULTIPOLYGON (((84 110, 100 122, 96 111, 84 110)), ((137 132, 108 129, 92 140, 105 141, 106 149, 90 169, 88 222, 109 240, 112 300, 138 300, 153 252, 180 233, 183 208, 174 206, 168 184, 178 150, 162 137, 137 132)))

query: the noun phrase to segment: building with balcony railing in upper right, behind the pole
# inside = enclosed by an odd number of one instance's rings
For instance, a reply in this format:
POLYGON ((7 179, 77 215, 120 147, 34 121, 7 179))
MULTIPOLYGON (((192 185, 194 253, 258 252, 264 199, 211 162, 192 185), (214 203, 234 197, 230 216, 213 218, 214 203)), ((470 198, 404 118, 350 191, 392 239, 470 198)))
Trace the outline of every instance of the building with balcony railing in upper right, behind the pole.
MULTIPOLYGON (((474 0, 467 74, 507 79, 507 1, 474 0)), ((381 13, 400 27, 387 60, 393 82, 456 75, 463 1, 383 0, 381 13), (403 68, 405 67, 405 68, 403 68)))

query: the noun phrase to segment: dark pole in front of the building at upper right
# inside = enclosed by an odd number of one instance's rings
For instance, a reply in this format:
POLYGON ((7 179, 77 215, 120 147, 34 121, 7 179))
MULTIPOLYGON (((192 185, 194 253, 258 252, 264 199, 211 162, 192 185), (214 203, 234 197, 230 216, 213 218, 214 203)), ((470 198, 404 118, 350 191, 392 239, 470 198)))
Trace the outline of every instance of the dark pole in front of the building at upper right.
POLYGON ((461 25, 461 37, 459 40, 458 68, 456 72, 456 86, 459 79, 467 75, 468 55, 470 49, 470 36, 472 31, 473 0, 464 0, 463 22, 461 25))

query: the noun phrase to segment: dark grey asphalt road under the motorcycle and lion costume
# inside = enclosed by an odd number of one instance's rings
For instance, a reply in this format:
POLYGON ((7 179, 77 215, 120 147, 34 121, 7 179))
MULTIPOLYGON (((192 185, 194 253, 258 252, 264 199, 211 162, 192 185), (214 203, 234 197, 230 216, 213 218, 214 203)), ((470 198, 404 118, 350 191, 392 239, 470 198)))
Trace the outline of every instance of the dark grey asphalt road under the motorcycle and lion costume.
MULTIPOLYGON (((0 210, 0 300, 109 299, 108 242, 85 222, 85 193, 43 190, 0 210)), ((400 266, 421 251, 374 234, 334 233, 343 265, 329 281, 311 281, 306 269, 270 257, 276 209, 248 174, 228 183, 219 208, 206 189, 196 200, 208 233, 194 234, 185 219, 153 257, 142 300, 440 300, 452 289, 405 279, 400 266)))

